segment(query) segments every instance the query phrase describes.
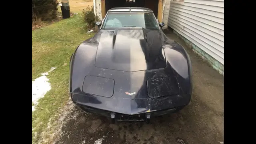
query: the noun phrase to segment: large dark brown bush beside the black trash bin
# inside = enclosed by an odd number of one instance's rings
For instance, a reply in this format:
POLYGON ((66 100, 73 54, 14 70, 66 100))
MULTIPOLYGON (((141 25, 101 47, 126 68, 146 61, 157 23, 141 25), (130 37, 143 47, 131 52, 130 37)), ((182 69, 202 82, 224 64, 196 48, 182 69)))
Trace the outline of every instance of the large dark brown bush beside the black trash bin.
POLYGON ((57 0, 32 0, 32 21, 57 18, 57 0))

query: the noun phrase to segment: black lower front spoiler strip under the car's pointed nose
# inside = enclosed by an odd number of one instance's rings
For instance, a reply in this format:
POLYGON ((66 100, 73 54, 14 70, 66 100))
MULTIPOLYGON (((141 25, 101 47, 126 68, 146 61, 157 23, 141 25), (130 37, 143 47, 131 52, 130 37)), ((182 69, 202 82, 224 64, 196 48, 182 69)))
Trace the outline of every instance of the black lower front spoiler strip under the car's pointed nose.
POLYGON ((98 108, 92 108, 90 106, 84 106, 81 104, 76 104, 78 107, 80 107, 83 111, 89 112, 89 113, 94 113, 94 114, 100 114, 102 116, 110 117, 112 119, 112 122, 115 121, 134 121, 134 122, 140 122, 140 121, 146 121, 149 122, 150 118, 152 116, 160 116, 164 114, 170 114, 170 113, 175 113, 184 108, 184 106, 179 106, 176 108, 171 108, 167 110, 157 110, 154 112, 144 112, 140 114, 121 114, 121 113, 116 113, 116 112, 110 112, 107 110, 101 110, 98 108))

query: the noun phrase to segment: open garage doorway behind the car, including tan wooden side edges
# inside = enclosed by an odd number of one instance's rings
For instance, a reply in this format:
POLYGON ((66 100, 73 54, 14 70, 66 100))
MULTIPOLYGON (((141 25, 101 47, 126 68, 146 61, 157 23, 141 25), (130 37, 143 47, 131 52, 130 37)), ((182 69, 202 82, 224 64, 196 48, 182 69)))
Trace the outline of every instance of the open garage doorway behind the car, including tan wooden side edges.
POLYGON ((101 0, 102 18, 107 11, 115 7, 144 7, 153 10, 159 22, 162 22, 164 0, 101 0))

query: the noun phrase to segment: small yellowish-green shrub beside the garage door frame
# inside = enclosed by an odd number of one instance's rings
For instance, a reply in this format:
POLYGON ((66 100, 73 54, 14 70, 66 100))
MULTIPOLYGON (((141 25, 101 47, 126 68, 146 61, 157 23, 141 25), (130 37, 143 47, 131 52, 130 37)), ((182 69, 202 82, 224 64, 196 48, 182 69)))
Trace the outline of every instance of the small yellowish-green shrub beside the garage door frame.
POLYGON ((93 6, 88 6, 86 9, 83 9, 82 20, 87 23, 88 30, 94 27, 94 24, 99 20, 99 17, 94 14, 93 6))

